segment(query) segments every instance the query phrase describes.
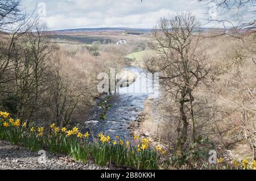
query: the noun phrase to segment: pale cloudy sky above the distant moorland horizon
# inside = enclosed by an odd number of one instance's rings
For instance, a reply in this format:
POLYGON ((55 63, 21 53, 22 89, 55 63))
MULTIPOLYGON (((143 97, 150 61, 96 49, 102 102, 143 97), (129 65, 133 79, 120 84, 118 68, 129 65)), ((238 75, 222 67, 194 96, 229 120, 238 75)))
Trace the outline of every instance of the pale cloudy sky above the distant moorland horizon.
POLYGON ((217 16, 213 5, 196 0, 21 0, 24 11, 40 15, 50 30, 70 28, 153 28, 158 19, 190 11, 204 27, 217 16))

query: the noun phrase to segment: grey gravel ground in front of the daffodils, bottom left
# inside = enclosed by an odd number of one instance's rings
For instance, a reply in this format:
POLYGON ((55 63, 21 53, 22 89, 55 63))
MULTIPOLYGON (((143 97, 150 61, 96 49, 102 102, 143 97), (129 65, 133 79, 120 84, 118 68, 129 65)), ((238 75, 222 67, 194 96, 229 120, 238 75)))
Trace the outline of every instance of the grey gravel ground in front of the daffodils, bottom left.
POLYGON ((80 163, 61 154, 46 153, 46 163, 39 163, 35 152, 27 151, 21 146, 0 141, 0 169, 7 170, 107 170, 107 167, 93 163, 80 163))

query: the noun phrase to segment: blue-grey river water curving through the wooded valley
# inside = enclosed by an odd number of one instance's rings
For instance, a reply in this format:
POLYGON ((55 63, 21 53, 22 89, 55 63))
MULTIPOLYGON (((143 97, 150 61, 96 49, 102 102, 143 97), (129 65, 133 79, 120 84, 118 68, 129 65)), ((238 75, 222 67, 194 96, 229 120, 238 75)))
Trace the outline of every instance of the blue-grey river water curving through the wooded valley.
POLYGON ((100 120, 100 107, 90 111, 90 117, 84 124, 94 135, 102 132, 110 137, 118 135, 126 139, 131 138, 130 123, 143 111, 144 100, 155 99, 158 96, 158 86, 154 86, 156 84, 151 74, 135 66, 125 69, 137 74, 137 79, 129 87, 120 87, 117 93, 109 94, 108 104, 112 107, 104 121, 100 120))

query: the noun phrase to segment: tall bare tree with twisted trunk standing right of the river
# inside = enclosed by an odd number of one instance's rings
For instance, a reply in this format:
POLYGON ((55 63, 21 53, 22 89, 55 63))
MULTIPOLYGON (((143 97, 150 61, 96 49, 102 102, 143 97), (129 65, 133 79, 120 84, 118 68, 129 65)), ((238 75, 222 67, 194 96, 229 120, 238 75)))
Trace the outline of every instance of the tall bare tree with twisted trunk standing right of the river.
POLYGON ((149 71, 160 73, 160 84, 174 96, 179 108, 178 155, 183 152, 188 138, 188 116, 192 120, 192 142, 195 141, 193 91, 208 74, 204 68, 204 52, 199 48, 199 30, 199 23, 189 12, 160 19, 152 31, 154 40, 150 44, 157 55, 145 61, 149 71))

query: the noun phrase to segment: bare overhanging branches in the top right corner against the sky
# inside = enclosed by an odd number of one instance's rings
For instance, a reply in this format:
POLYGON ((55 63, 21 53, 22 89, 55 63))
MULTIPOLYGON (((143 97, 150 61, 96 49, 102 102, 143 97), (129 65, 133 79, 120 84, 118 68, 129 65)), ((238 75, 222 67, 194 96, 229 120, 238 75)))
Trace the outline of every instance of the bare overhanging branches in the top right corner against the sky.
POLYGON ((208 21, 218 23, 224 31, 217 32, 211 37, 228 35, 242 42, 240 48, 247 51, 251 61, 256 65, 254 43, 256 37, 256 1, 255 0, 198 0, 213 3, 217 17, 209 16, 208 21), (218 16, 220 14, 220 16, 218 16))

